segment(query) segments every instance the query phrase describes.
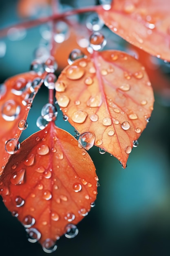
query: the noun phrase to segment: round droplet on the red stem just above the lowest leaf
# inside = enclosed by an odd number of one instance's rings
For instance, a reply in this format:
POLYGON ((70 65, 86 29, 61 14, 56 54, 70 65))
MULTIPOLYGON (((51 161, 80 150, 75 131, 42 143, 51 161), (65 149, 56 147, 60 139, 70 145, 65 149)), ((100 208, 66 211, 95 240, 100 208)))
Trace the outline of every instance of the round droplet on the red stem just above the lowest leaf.
POLYGON ((42 107, 41 115, 46 121, 55 121, 57 117, 57 109, 53 104, 47 103, 42 107))

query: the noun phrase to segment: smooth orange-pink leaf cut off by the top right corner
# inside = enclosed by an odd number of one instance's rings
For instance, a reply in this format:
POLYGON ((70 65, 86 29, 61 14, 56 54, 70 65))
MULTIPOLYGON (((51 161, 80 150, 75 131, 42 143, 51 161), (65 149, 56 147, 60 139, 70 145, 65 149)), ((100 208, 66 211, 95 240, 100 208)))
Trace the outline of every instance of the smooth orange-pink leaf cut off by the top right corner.
POLYGON ((170 61, 169 0, 113 0, 98 14, 116 34, 140 49, 170 61))

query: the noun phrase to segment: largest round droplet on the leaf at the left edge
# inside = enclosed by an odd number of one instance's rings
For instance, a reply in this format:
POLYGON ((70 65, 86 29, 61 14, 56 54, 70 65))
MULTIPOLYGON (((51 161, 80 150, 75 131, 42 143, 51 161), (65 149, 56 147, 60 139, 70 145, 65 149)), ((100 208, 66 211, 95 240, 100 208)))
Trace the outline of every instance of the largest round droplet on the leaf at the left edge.
POLYGON ((2 106, 2 117, 6 121, 15 120, 20 114, 20 106, 13 100, 9 100, 2 106))

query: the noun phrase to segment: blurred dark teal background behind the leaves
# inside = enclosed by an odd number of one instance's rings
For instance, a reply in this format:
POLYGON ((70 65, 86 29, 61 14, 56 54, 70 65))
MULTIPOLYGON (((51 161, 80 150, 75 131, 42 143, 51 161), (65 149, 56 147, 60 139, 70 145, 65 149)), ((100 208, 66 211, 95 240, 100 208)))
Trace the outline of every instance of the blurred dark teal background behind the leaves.
MULTIPOLYGON (((73 1, 73 4, 76 4, 76 1, 73 1)), ((1 28, 19 21, 15 7, 16 1, 2 1, 1 28)), ((123 40, 107 29, 104 33, 109 35, 108 47, 124 47, 123 40), (120 45, 117 42, 120 42, 120 45)), ((0 83, 9 76, 29 70, 40 40, 39 27, 27 30, 23 40, 11 41, 7 37, 0 38, 0 83)), ((170 75, 169 66, 165 75, 170 75)), ((46 102, 47 89, 43 86, 33 101, 28 118, 29 127, 22 133, 21 140, 38 131, 36 119, 46 102)), ((98 188, 96 206, 78 224, 78 236, 73 239, 60 238, 57 242, 57 251, 51 255, 170 255, 169 106, 170 99, 155 94, 151 121, 139 138, 139 146, 133 148, 126 169, 122 169, 119 161, 108 153, 99 155, 98 148, 95 147, 89 150, 101 185, 98 188)), ((68 122, 63 121, 61 112, 56 124, 75 135, 74 129, 68 122)), ((27 241, 24 227, 7 211, 2 199, 0 255, 46 255, 39 244, 27 241)))

